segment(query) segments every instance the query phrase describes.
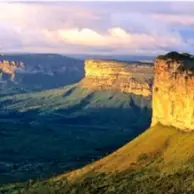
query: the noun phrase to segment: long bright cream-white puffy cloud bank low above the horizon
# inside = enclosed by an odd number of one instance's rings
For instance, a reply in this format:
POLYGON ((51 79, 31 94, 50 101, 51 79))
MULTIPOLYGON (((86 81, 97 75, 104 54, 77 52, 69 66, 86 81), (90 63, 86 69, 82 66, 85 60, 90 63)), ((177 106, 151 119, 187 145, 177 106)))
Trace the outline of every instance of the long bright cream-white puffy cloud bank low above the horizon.
POLYGON ((130 33, 122 28, 110 28, 106 33, 101 34, 92 29, 60 29, 57 31, 45 31, 48 39, 60 40, 63 43, 72 45, 84 45, 93 48, 116 48, 139 49, 139 48, 167 48, 180 46, 181 37, 174 33, 173 36, 166 35, 161 37, 155 34, 130 33))

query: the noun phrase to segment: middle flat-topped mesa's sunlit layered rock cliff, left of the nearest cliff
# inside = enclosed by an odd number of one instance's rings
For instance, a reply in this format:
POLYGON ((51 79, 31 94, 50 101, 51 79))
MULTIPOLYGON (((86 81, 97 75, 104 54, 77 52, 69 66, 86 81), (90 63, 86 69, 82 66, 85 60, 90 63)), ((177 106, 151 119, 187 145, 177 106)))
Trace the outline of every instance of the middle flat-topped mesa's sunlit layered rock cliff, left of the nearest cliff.
POLYGON ((85 78, 81 81, 81 86, 150 96, 152 81, 151 64, 89 59, 85 61, 85 78))

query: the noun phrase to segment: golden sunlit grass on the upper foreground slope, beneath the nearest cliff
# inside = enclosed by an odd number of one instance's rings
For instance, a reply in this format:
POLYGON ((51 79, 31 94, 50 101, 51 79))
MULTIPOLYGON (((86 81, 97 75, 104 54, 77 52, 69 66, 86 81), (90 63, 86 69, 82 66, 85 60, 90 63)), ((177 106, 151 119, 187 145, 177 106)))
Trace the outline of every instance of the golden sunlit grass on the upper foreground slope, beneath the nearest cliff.
POLYGON ((172 127, 156 125, 111 155, 81 169, 60 175, 54 180, 63 177, 73 179, 91 171, 101 173, 126 171, 136 165, 142 154, 148 156, 160 154, 162 160, 154 161, 152 165, 157 166, 161 172, 173 173, 187 165, 193 158, 193 148, 194 132, 182 132, 172 127))

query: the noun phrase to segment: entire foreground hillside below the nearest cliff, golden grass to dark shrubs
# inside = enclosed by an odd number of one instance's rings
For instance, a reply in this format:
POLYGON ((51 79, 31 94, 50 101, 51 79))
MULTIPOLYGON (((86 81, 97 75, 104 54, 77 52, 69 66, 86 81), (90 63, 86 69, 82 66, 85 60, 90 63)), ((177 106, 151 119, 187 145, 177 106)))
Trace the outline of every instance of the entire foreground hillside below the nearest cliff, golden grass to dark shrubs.
POLYGON ((46 182, 2 191, 31 193, 194 193, 194 133, 154 126, 113 154, 46 182))

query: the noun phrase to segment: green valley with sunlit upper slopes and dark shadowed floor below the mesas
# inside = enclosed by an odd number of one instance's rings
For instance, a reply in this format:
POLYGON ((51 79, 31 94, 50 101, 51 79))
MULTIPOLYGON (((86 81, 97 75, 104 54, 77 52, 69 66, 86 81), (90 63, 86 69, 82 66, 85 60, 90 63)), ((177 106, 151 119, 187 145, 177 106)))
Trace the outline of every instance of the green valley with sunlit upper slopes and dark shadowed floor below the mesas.
POLYGON ((79 85, 0 98, 0 184, 51 177, 121 147, 150 123, 150 99, 79 85))

